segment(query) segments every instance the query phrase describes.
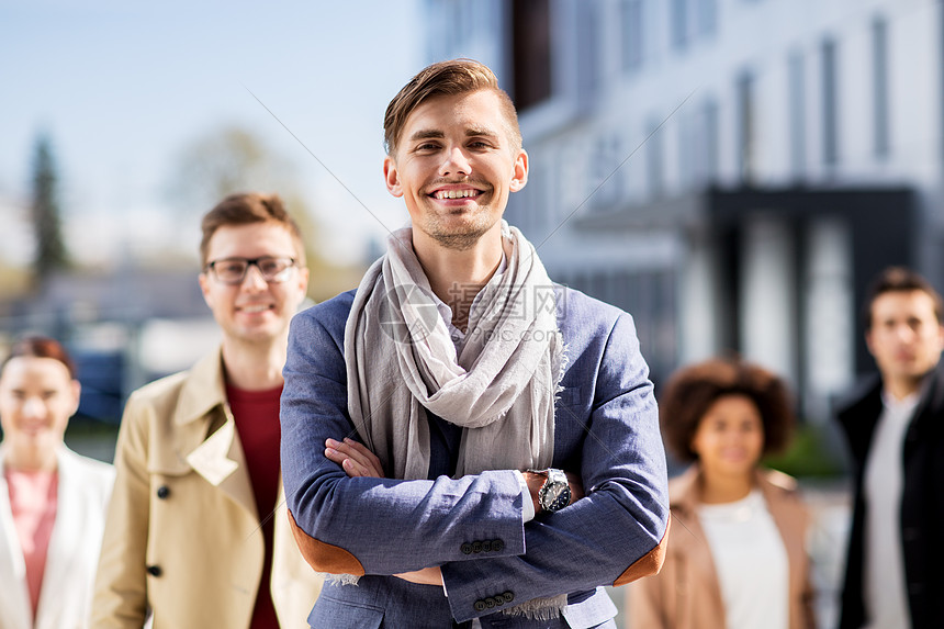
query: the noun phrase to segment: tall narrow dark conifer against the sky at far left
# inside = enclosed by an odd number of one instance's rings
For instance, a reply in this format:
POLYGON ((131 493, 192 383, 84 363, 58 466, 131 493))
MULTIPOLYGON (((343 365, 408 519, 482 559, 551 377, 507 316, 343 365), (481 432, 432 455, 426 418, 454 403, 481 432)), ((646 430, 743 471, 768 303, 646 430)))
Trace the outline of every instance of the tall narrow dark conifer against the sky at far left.
POLYGON ((33 154, 33 198, 30 215, 36 237, 33 271, 42 282, 49 273, 69 266, 69 256, 63 240, 59 212, 58 176, 49 137, 40 134, 33 154))

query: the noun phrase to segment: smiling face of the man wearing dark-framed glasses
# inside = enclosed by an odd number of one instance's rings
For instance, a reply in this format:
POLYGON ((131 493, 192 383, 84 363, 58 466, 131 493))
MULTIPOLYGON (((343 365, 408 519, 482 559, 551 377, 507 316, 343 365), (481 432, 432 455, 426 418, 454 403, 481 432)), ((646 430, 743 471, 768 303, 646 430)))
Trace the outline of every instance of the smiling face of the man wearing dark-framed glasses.
MULTIPOLYGON (((216 229, 206 249, 207 262, 266 256, 299 258, 292 235, 278 223, 225 225, 216 229)), ((271 342, 285 334, 307 283, 308 270, 300 268, 292 268, 283 282, 267 282, 255 266, 246 270, 240 284, 223 283, 213 271, 200 274, 203 299, 224 337, 245 342, 271 342)))

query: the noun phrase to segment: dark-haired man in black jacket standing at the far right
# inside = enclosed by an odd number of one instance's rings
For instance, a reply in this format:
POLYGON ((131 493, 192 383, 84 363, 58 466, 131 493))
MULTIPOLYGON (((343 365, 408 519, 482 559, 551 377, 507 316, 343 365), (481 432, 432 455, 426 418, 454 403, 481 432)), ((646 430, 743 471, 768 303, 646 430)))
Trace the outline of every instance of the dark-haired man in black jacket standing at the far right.
POLYGON ((866 300, 879 379, 839 412, 855 464, 842 629, 944 627, 941 295, 890 268, 866 300))

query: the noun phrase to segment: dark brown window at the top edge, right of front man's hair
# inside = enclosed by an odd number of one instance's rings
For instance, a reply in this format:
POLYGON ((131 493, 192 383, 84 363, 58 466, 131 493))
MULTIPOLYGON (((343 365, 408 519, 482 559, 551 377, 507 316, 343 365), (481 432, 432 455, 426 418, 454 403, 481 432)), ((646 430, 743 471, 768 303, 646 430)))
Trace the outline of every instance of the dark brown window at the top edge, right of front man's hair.
POLYGON ((512 3, 513 97, 518 111, 551 97, 551 11, 549 0, 512 3))

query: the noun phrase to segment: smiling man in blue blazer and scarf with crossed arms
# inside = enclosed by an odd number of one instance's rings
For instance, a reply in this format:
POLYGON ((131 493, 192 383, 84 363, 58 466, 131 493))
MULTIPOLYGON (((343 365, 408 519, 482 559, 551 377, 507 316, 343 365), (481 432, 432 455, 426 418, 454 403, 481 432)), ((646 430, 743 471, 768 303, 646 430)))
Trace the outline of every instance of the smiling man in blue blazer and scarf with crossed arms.
POLYGON ((308 622, 615 627, 600 586, 658 571, 668 519, 632 319, 502 220, 528 155, 488 68, 424 69, 384 132, 411 226, 290 333, 285 491, 330 575, 308 622))

